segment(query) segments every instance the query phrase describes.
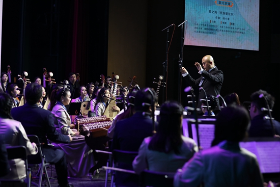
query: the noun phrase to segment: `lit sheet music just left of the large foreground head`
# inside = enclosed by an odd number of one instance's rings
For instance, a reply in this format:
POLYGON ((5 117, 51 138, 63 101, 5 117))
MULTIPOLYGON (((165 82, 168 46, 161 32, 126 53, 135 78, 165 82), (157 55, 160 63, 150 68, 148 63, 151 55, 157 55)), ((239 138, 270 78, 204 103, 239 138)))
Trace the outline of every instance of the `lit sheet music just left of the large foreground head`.
MULTIPOLYGON (((197 129, 195 128, 195 124, 191 124, 191 130, 193 140, 198 143, 197 129)), ((203 147, 203 149, 208 149, 211 147, 211 142, 214 139, 214 132, 214 124, 199 124, 200 146, 203 147)))

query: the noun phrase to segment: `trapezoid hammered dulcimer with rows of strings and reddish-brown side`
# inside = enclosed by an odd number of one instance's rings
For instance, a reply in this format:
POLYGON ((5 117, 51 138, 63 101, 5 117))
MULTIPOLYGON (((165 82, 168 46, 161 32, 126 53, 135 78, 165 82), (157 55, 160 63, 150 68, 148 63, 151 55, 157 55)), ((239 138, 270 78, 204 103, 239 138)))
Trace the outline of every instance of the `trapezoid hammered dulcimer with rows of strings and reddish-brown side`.
POLYGON ((87 129, 92 132, 93 137, 106 136, 109 127, 112 125, 113 121, 106 116, 90 117, 76 119, 76 125, 82 126, 83 129, 87 129))

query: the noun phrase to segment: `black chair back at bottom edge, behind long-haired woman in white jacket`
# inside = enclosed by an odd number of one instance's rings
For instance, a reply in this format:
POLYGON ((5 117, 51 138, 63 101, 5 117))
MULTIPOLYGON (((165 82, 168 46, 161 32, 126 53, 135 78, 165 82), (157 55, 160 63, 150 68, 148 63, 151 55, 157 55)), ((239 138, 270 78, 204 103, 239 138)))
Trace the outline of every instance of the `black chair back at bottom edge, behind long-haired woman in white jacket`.
POLYGON ((144 170, 140 174, 140 186, 170 187, 173 186, 175 173, 144 170))

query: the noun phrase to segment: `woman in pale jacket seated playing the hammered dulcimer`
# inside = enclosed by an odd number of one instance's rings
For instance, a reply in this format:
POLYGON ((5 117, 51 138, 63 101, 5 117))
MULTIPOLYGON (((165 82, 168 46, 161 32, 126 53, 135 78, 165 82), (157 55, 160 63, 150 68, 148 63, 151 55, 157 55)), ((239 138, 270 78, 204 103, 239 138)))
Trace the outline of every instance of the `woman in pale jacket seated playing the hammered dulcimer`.
POLYGON ((71 101, 69 89, 61 88, 59 90, 53 90, 51 94, 54 94, 54 97, 50 99, 49 111, 51 111, 53 115, 54 125, 57 126, 64 135, 79 135, 79 132, 72 130, 75 125, 71 124, 71 118, 65 108, 65 105, 70 104, 71 101))

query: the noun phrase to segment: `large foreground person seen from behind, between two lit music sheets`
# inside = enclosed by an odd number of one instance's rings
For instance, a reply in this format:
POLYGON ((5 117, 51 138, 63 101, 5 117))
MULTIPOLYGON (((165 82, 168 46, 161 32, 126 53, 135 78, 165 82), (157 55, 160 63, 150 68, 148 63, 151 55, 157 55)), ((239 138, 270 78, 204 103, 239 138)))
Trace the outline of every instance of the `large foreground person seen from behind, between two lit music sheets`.
POLYGON ((239 147, 250 118, 241 106, 221 110, 215 123, 225 138, 217 146, 195 154, 174 178, 174 186, 263 186, 263 177, 255 154, 239 147))

